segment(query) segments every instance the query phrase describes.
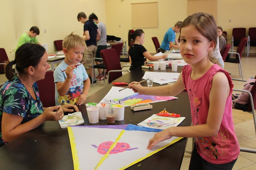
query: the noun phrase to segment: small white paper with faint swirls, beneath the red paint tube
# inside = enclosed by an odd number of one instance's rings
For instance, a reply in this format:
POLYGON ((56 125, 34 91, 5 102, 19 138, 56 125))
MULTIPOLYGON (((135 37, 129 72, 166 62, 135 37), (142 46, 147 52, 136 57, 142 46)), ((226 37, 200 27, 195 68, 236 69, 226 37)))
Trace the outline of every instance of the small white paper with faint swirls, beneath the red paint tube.
POLYGON ((155 128, 155 129, 167 129, 169 127, 178 126, 185 117, 164 117, 158 115, 152 115, 148 119, 140 122, 138 126, 155 128))

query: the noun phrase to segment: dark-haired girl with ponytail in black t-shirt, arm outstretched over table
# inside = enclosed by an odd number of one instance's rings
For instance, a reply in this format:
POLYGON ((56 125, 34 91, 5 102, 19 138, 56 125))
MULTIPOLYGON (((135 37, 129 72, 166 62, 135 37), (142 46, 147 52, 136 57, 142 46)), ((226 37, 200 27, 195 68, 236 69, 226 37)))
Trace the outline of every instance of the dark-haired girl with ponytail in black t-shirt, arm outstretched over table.
POLYGON ((152 56, 149 54, 149 52, 146 50, 145 47, 143 47, 144 43, 144 37, 145 34, 143 30, 129 30, 128 32, 128 45, 129 45, 129 58, 130 58, 130 71, 133 69, 136 69, 137 67, 141 67, 144 65, 144 57, 146 57, 148 60, 159 60, 159 59, 166 59, 167 54, 163 54, 161 56, 152 56))

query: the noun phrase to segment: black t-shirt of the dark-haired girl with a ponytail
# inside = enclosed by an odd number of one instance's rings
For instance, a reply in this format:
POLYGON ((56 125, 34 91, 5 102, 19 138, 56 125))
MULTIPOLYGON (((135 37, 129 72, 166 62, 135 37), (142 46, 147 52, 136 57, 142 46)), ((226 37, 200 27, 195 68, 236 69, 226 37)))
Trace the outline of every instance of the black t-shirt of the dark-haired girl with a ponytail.
POLYGON ((132 66, 130 67, 130 71, 144 65, 144 56, 142 53, 144 53, 145 51, 147 51, 146 48, 139 44, 134 44, 129 49, 129 55, 131 56, 132 60, 132 66))

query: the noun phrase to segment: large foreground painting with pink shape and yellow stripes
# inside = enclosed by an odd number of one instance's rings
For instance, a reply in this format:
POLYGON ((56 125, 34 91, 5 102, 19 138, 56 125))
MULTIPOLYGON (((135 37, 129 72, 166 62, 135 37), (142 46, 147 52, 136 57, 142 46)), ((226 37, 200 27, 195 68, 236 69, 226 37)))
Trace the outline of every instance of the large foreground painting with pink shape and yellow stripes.
POLYGON ((69 126, 74 169, 126 169, 182 139, 172 137, 152 150, 146 149, 149 139, 159 131, 130 124, 69 126))

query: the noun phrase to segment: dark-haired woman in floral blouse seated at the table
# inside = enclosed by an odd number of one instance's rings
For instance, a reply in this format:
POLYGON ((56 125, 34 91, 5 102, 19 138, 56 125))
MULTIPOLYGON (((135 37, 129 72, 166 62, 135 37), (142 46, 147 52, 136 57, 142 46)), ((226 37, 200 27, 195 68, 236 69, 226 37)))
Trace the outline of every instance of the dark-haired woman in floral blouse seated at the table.
POLYGON ((50 68, 47 60, 44 47, 26 43, 17 49, 13 61, 5 62, 8 81, 0 89, 0 147, 47 120, 61 120, 63 111, 73 111, 68 107, 79 111, 71 104, 43 107, 36 81, 44 79, 50 68), (15 74, 11 72, 14 64, 18 72, 15 74))

